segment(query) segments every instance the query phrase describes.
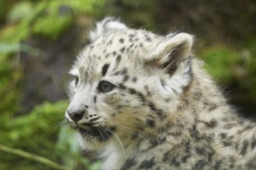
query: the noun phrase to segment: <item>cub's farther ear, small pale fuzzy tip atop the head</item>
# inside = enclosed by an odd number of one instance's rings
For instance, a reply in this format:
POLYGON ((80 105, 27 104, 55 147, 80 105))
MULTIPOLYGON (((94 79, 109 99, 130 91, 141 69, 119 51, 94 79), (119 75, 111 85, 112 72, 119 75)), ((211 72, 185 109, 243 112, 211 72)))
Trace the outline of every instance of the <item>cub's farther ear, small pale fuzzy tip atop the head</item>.
POLYGON ((127 26, 122 22, 119 22, 119 19, 114 17, 106 17, 101 22, 96 23, 96 28, 91 30, 88 38, 91 40, 91 42, 94 42, 95 39, 98 39, 101 36, 107 36, 112 32, 122 29, 127 29, 127 26))

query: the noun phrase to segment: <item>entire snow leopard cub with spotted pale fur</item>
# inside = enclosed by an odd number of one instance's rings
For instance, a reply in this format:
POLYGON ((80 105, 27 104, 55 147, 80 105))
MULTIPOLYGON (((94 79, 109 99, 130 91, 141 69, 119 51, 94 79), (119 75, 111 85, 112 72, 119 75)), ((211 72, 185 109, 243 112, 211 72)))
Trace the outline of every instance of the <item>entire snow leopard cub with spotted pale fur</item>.
POLYGON ((65 117, 102 169, 256 169, 255 122, 201 69, 191 35, 106 18, 89 38, 70 71, 65 117))

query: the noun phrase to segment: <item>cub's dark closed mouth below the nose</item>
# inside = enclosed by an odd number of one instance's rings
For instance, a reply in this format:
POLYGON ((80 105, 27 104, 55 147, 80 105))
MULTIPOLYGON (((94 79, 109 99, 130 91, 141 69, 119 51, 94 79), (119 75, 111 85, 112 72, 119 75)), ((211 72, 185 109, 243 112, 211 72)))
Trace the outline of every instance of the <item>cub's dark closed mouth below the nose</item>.
POLYGON ((103 127, 93 127, 93 128, 78 128, 81 136, 91 136, 98 138, 99 141, 107 141, 113 134, 115 134, 116 128, 103 128, 103 127))

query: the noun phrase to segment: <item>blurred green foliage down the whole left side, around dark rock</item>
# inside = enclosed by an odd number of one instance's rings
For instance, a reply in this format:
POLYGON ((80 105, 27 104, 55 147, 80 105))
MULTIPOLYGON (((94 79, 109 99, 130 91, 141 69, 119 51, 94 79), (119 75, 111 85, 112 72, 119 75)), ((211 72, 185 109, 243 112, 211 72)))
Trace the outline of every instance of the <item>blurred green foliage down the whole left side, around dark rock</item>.
MULTIPOLYGON (((83 158, 74 131, 64 124, 67 101, 44 102, 29 113, 22 110, 23 66, 20 53, 40 57, 26 44, 30 36, 58 39, 78 15, 98 15, 103 1, 0 2, 0 144, 40 155, 70 169, 99 169, 83 158), (95 10, 95 7, 97 10, 95 10)), ((49 165, 0 150, 0 169, 51 169, 49 165), (14 164, 15 162, 15 164, 14 164)))

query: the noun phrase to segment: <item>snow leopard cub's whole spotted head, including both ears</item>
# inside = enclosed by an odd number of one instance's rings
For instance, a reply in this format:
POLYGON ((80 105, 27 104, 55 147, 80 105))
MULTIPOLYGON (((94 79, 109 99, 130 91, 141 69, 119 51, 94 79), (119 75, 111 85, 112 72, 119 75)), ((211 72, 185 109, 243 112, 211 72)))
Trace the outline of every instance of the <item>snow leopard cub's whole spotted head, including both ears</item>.
POLYGON ((98 22, 70 73, 65 117, 85 148, 161 128, 191 81, 192 36, 157 36, 113 18, 98 22))

